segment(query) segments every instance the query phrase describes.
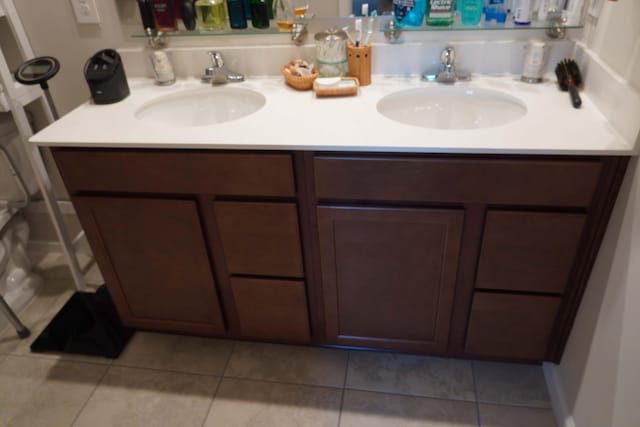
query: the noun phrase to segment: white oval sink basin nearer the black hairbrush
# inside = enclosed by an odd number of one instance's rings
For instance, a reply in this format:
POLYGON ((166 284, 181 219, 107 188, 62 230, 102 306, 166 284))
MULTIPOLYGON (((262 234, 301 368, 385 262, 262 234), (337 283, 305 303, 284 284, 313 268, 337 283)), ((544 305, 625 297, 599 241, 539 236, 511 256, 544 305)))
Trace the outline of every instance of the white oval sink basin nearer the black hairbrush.
POLYGON ((527 114, 517 98, 496 90, 465 87, 407 89, 377 105, 383 116, 430 129, 481 129, 502 126, 527 114))

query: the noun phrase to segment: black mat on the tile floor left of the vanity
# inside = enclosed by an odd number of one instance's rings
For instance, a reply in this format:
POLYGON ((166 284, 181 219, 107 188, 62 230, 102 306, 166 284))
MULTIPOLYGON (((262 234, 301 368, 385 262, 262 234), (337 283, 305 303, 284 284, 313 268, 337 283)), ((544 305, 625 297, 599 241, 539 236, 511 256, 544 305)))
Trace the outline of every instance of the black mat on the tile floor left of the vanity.
POLYGON ((107 287, 102 285, 96 293, 74 293, 31 344, 31 351, 115 359, 133 332, 122 325, 107 287))

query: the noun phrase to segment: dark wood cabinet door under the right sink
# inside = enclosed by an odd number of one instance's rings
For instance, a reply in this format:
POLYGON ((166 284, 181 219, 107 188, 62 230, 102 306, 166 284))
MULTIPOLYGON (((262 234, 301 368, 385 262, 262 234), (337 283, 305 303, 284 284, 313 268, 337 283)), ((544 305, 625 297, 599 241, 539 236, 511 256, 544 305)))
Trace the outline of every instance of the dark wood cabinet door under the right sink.
POLYGON ((327 336, 446 350, 463 212, 319 207, 327 336))

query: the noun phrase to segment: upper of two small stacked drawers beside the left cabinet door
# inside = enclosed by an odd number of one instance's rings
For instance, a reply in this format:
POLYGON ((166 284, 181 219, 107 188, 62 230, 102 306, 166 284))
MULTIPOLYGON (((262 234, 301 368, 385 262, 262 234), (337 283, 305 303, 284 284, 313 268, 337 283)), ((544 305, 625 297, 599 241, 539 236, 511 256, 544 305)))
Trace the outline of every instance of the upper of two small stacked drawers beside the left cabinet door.
POLYGON ((215 202, 214 209, 230 274, 304 276, 295 204, 215 202))

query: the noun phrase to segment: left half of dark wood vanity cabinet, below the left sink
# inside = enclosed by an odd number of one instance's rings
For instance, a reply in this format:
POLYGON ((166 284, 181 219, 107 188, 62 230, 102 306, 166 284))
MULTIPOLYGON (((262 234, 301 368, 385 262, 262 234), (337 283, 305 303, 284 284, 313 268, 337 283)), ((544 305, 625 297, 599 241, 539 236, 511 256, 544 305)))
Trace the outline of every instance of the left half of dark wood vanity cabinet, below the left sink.
POLYGON ((127 325, 310 341, 290 153, 53 154, 127 325))

